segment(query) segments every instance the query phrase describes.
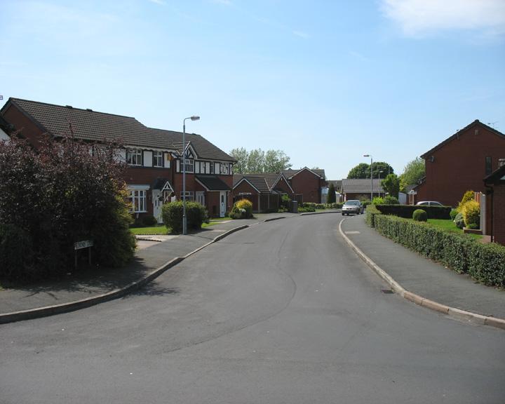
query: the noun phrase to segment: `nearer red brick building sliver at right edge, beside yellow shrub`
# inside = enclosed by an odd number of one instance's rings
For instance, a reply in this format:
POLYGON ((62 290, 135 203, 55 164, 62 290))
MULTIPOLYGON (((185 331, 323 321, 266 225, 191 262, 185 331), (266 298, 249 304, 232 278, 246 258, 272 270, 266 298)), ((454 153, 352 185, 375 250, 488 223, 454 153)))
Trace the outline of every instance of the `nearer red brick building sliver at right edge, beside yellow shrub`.
POLYGON ((505 245, 505 161, 504 164, 484 179, 490 209, 487 216, 490 226, 487 234, 491 241, 505 245))

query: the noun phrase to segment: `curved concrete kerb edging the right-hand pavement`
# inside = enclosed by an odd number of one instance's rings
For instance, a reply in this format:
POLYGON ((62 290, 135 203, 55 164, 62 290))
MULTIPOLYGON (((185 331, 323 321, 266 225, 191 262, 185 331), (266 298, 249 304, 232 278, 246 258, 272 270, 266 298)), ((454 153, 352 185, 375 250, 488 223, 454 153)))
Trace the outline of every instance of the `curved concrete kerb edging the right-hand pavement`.
POLYGON ((339 232, 346 241, 346 243, 351 247, 352 250, 358 255, 368 265, 380 278, 384 279, 386 283, 394 290, 398 295, 403 297, 404 299, 409 300, 415 304, 419 304, 419 306, 426 307, 426 309, 431 309, 433 311, 438 311, 439 313, 446 314, 452 318, 455 318, 459 321, 467 321, 469 323, 476 323, 480 325, 490 325, 491 327, 501 328, 505 330, 505 319, 503 318, 495 318, 491 316, 482 316, 480 314, 472 313, 471 311, 465 311, 456 309, 454 307, 446 306, 445 304, 440 304, 438 302, 433 302, 433 300, 426 299, 425 297, 416 295, 408 290, 405 290, 403 286, 401 286, 398 282, 396 282, 391 276, 384 271, 381 267, 379 267, 375 262, 373 262, 368 255, 365 255, 363 251, 361 251, 356 244, 354 244, 349 237, 346 236, 344 231, 342 230, 342 222, 345 219, 339 222, 339 232))

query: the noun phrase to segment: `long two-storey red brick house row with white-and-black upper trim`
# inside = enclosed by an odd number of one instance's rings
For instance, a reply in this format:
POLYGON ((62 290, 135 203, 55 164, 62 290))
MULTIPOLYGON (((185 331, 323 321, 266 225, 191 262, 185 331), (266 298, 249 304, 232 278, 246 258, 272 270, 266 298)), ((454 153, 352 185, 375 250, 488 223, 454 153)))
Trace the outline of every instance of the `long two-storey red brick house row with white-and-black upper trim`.
MULTIPOLYGON (((55 139, 69 134, 100 144, 118 142, 118 158, 128 164, 125 181, 136 217, 161 219, 166 201, 182 198, 182 133, 148 128, 133 117, 9 98, 0 116, 29 142, 44 134, 55 139)), ((223 217, 231 208, 231 156, 201 135, 186 135, 186 199, 206 206, 211 216, 223 217)), ((90 152, 92 147, 90 147, 90 152)))

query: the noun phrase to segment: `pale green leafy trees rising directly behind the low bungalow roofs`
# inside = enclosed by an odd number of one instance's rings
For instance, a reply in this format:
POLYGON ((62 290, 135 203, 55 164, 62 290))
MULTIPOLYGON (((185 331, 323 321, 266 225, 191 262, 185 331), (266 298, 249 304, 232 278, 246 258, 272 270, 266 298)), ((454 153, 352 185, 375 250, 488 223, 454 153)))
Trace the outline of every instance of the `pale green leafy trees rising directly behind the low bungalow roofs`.
POLYGON ((243 147, 232 149, 230 156, 237 160, 234 166, 236 174, 278 173, 291 168, 290 158, 282 150, 253 149, 248 152, 243 147))

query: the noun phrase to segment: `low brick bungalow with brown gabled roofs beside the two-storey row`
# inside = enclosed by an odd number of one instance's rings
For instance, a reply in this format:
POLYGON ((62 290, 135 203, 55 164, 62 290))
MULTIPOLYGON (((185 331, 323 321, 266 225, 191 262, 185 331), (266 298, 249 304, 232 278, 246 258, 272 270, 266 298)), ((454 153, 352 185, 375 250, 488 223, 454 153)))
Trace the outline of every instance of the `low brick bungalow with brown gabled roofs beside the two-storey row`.
POLYGON ((281 173, 236 174, 233 176, 233 200, 248 199, 253 203, 253 212, 278 210, 283 195, 290 199, 295 192, 281 173))

